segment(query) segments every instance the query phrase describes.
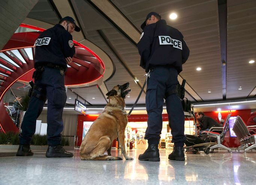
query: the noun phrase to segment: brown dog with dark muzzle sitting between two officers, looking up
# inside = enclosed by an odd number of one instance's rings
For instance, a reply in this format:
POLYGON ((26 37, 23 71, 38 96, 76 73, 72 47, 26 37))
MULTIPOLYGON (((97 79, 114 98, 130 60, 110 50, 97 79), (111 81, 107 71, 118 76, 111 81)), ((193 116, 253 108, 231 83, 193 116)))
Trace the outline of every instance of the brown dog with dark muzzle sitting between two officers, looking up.
POLYGON ((125 159, 133 159, 125 151, 125 128, 128 118, 124 114, 124 99, 131 91, 126 90, 128 87, 129 83, 117 85, 106 94, 109 101, 104 111, 93 122, 81 143, 81 160, 122 160, 120 157, 111 156, 111 146, 117 137, 125 159), (104 155, 106 150, 108 155, 104 155))

